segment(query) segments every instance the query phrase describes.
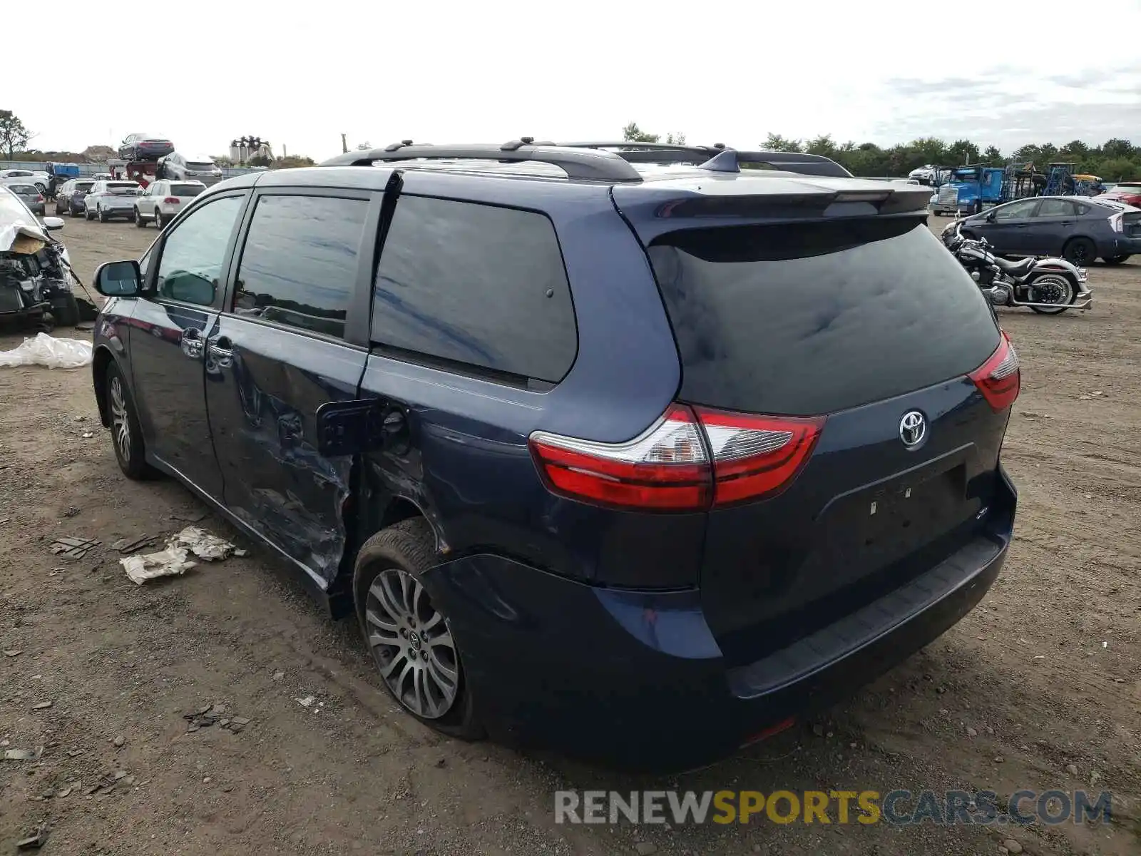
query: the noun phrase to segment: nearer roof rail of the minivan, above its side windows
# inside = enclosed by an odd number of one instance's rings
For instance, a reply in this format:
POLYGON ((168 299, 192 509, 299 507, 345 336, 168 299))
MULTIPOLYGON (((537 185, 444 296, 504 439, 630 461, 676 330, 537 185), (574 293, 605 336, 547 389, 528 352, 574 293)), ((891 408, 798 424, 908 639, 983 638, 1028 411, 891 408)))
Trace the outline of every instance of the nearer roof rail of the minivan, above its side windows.
POLYGON ((502 145, 412 145, 408 140, 369 152, 348 152, 332 158, 322 167, 371 167, 377 161, 474 160, 524 163, 550 163, 567 173, 567 178, 606 181, 640 181, 641 175, 613 152, 582 151, 578 147, 532 145, 511 140, 502 145))

